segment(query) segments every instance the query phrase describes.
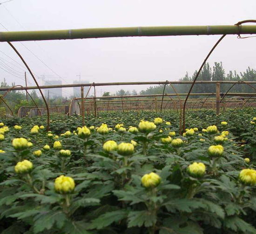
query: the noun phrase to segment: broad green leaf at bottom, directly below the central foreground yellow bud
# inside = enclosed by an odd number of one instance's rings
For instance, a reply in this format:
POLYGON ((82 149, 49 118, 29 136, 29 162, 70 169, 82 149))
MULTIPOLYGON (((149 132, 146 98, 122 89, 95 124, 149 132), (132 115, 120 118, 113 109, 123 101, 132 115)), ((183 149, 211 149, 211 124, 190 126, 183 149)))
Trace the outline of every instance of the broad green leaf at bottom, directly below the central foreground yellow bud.
POLYGON ((128 215, 128 228, 132 227, 152 227, 156 223, 156 216, 148 212, 147 210, 142 211, 131 211, 128 215))

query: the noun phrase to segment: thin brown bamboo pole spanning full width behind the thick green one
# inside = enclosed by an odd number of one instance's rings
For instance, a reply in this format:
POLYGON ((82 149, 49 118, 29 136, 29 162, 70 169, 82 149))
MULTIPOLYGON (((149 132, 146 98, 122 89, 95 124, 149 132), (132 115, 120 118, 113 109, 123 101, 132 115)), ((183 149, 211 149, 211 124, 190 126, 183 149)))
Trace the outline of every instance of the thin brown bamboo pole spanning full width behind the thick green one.
MULTIPOLYGON (((170 81, 171 84, 192 84, 193 81, 170 81)), ((244 84, 241 81, 196 81, 195 84, 244 84)), ((247 81, 248 84, 256 84, 256 81, 247 81)), ((43 85, 40 89, 54 88, 71 88, 71 87, 88 87, 88 86, 113 86, 113 85, 145 85, 145 84, 169 84, 166 81, 148 81, 148 82, 113 82, 113 83, 90 83, 90 84, 59 84, 59 85, 43 85)), ((245 84, 246 85, 246 84, 245 84)), ((0 88, 0 91, 7 91, 9 88, 0 88)), ((37 86, 15 87, 12 90, 36 90, 37 86)))

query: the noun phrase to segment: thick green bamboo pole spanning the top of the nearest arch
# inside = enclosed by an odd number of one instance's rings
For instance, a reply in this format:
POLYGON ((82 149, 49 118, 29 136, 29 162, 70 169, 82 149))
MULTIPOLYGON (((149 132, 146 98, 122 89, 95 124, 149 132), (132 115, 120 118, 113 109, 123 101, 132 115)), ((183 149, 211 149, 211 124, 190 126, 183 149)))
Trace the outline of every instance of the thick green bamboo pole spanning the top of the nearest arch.
POLYGON ((61 39, 87 39, 110 37, 154 37, 181 35, 222 35, 222 34, 256 34, 255 25, 221 25, 221 26, 154 26, 154 27, 117 27, 84 28, 47 31, 0 32, 3 41, 35 41, 61 39))

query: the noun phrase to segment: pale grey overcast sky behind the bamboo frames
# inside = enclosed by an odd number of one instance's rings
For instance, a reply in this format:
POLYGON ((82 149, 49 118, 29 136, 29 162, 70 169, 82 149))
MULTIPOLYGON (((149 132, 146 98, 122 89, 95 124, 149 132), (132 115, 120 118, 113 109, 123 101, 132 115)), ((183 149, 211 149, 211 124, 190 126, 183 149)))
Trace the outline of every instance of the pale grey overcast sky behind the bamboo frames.
MULTIPOLYGON (((7 0, 0 0, 4 2, 7 0)), ((0 31, 126 26, 234 25, 256 19, 256 0, 12 0, 0 5, 0 31), (5 28, 4 28, 5 27, 5 28)), ((220 36, 169 36, 14 42, 32 71, 62 84, 178 80, 192 75, 220 36), (27 48, 26 48, 26 47, 27 48), (36 55, 38 58, 36 58, 36 55)), ((25 71, 7 43, 0 43, 0 81, 25 84, 25 71), (7 57, 5 54, 9 57, 7 57), (4 61, 4 63, 3 63, 4 61), (7 65, 8 66, 7 66, 7 65), (11 67, 11 68, 10 68, 11 67), (7 69, 8 68, 8 69, 7 69), (2 70, 5 69, 8 72, 2 70), (14 69, 14 70, 13 70, 14 69), (10 71, 11 70, 11 71, 10 71), (12 74, 10 74, 10 72, 12 74), (18 77, 15 77, 13 75, 18 77)), ((229 70, 256 68, 256 38, 228 35, 209 58, 229 70)), ((29 85, 34 81, 28 76, 29 85)), ((39 83, 42 81, 39 79, 39 83)), ((97 87, 100 92, 145 86, 97 87)), ((65 89, 63 95, 72 95, 65 89)))

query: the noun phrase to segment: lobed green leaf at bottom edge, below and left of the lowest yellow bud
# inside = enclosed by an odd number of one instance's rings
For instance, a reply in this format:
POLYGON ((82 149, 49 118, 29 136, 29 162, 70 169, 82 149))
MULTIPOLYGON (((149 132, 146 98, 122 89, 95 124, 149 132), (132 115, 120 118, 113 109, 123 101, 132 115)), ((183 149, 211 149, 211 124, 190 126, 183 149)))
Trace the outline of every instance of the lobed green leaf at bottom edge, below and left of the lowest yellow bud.
POLYGON ((49 211, 37 215, 34 221, 34 233, 39 233, 45 229, 51 229, 54 224, 58 228, 62 228, 65 222, 67 222, 67 217, 62 211, 49 211))

